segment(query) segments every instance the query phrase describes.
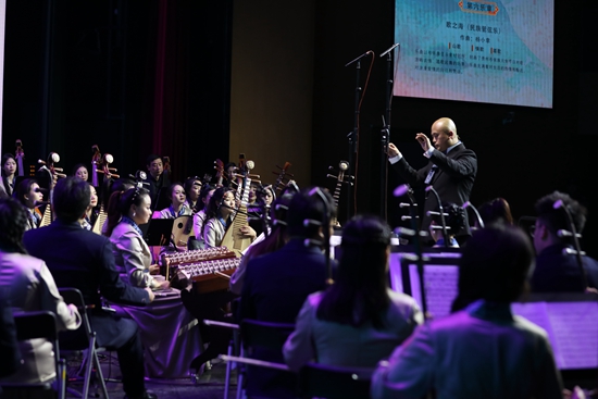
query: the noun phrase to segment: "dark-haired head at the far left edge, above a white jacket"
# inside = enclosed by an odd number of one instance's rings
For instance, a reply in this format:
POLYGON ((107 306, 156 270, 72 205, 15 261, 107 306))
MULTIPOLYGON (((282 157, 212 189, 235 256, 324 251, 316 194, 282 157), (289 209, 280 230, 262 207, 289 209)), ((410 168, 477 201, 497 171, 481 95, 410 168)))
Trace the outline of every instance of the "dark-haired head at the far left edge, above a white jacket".
POLYGON ((0 198, 0 250, 27 253, 23 246, 27 220, 23 204, 13 198, 0 198))

